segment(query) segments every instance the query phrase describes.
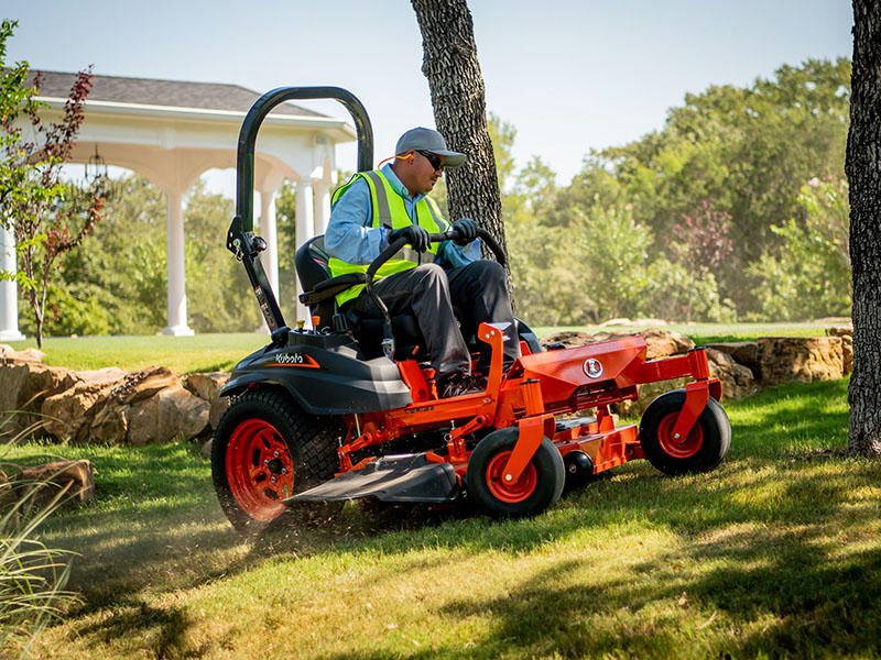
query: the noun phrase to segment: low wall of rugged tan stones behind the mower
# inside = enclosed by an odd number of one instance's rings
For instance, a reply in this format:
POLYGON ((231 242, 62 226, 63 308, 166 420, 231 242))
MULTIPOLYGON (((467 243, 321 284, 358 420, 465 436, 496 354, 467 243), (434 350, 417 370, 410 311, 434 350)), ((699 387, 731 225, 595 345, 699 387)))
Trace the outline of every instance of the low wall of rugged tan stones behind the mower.
MULTIPOLYGON (((694 342, 676 332, 648 328, 637 332, 655 360, 685 353, 694 342)), ((561 332, 542 340, 547 346, 585 345, 626 334, 561 332)), ((764 337, 757 341, 709 344, 711 374, 722 383, 722 400, 757 394, 782 383, 838 380, 852 367, 852 328, 833 327, 828 337, 764 337)), ((144 444, 208 436, 227 399, 218 396, 229 374, 178 377, 165 367, 138 372, 117 367, 75 372, 47 366, 35 349, 15 352, 0 344, 0 439, 29 427, 73 442, 144 444)), ((648 383, 637 402, 617 406, 622 415, 641 415, 663 392, 687 378, 648 383)))

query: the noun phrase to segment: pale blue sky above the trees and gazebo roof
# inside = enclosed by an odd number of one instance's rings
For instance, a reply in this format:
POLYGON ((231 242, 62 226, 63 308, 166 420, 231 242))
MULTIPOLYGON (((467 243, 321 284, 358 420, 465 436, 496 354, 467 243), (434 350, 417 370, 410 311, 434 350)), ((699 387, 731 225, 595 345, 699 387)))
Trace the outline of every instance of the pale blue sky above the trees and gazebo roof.
MULTIPOLYGON (((850 57, 848 0, 469 0, 487 108, 566 184, 590 150, 663 128, 710 85, 850 57)), ((376 160, 434 127, 422 35, 405 0, 3 0, 8 62, 34 69, 241 85, 333 85, 366 106, 376 160)), ((347 117, 334 102, 309 106, 347 117)), ((337 166, 355 169, 355 146, 337 166)))

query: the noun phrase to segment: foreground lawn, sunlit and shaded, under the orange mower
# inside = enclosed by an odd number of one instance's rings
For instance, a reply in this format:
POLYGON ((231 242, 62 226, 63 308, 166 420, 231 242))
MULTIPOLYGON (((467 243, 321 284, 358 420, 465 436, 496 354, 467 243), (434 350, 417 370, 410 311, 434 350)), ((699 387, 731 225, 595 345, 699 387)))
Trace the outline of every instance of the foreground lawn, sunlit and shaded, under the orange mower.
POLYGON ((347 508, 244 541, 187 443, 91 458, 99 499, 50 522, 84 604, 59 658, 881 657, 881 462, 844 455, 847 381, 726 407, 727 460, 644 461, 532 519, 347 508))

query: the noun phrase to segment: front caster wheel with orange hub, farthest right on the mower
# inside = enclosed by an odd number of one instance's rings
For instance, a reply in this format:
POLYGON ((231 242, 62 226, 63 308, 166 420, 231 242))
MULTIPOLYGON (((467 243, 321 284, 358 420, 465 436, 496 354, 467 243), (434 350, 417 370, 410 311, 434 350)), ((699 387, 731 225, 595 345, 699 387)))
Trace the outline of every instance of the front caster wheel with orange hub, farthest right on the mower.
POLYGON ((640 421, 640 443, 645 458, 664 474, 709 472, 731 446, 731 422, 719 402, 710 397, 692 431, 674 440, 673 426, 685 406, 685 389, 654 399, 640 421))

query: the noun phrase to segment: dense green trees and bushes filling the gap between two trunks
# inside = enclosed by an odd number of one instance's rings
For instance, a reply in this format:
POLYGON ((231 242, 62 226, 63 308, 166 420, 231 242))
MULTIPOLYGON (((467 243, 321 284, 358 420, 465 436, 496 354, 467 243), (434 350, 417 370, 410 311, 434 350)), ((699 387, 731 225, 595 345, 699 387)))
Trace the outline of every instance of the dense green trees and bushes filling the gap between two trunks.
MULTIPOLYGON (((566 187, 534 160, 503 199, 509 245, 524 251, 511 254, 520 312, 548 323, 634 314, 667 320, 846 314, 840 215, 847 208, 833 211, 834 202, 812 202, 800 190, 812 177, 840 178, 849 85, 846 58, 811 59, 748 88, 687 95, 663 130, 592 152, 566 187), (826 210, 811 211, 811 204, 826 210), (839 220, 806 224, 824 213, 839 220), (802 257, 804 264, 795 263, 802 257), (547 298, 562 302, 543 300, 540 282, 547 298), (562 290, 581 283, 590 290, 562 290)), ((507 155, 497 150, 497 161, 507 155)), ((846 204, 846 196, 836 200, 846 204)))

